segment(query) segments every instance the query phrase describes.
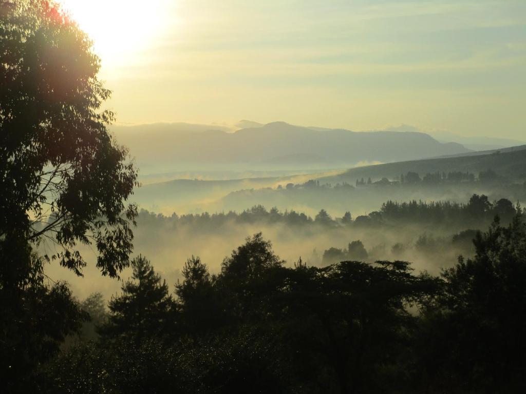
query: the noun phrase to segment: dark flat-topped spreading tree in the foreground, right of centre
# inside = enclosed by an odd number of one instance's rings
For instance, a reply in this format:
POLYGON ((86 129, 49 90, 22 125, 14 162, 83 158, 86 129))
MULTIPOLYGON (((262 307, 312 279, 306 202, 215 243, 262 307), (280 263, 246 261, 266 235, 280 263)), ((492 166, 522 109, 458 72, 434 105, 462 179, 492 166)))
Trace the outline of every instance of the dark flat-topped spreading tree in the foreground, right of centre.
POLYGON ((296 267, 289 280, 287 346, 311 386, 323 374, 323 392, 382 392, 390 389, 383 378, 403 379, 402 349, 416 319, 404 305, 434 292, 432 280, 404 262, 296 267))

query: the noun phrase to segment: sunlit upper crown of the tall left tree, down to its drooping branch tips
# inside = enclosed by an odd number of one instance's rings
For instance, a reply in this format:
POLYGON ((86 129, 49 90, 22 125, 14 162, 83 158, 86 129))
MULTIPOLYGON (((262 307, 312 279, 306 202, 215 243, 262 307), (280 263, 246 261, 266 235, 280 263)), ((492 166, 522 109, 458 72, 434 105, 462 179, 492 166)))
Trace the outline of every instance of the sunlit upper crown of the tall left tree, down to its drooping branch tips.
POLYGON ((0 36, 0 242, 52 241, 49 257, 77 274, 75 245, 94 243, 97 266, 116 276, 132 246, 136 209, 124 200, 137 173, 106 130, 113 113, 99 110, 110 94, 100 60, 47 0, 3 1, 0 36))

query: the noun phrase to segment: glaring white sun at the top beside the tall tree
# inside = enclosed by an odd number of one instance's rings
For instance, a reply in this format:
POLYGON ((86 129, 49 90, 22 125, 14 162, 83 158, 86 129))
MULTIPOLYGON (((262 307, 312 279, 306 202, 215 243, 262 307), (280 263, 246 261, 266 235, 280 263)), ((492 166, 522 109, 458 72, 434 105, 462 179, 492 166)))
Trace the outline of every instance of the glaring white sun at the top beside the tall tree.
POLYGON ((103 68, 140 60, 170 24, 169 0, 59 0, 94 42, 103 68))

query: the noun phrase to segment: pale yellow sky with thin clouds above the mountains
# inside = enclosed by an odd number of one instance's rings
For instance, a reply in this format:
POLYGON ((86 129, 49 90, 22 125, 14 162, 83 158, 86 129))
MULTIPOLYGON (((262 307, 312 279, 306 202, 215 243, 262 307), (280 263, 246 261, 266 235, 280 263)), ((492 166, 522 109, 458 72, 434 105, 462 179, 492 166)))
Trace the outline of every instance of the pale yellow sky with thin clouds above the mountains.
POLYGON ((118 123, 526 139, 525 0, 63 0, 118 123))

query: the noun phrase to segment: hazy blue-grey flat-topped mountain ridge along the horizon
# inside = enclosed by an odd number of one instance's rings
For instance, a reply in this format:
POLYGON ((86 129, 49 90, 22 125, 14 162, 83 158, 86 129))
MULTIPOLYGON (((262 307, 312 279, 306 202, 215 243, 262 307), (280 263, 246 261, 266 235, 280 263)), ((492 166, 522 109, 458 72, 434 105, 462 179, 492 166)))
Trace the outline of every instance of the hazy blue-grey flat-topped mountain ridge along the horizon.
POLYGON ((313 167, 350 167, 362 161, 393 162, 470 152, 459 143, 441 143, 422 132, 356 132, 285 122, 241 124, 255 127, 231 132, 222 126, 168 123, 114 127, 113 132, 118 143, 127 146, 136 157, 139 168, 153 168, 156 164, 162 164, 164 169, 298 167, 309 165, 309 157, 315 161, 311 163, 313 167))

